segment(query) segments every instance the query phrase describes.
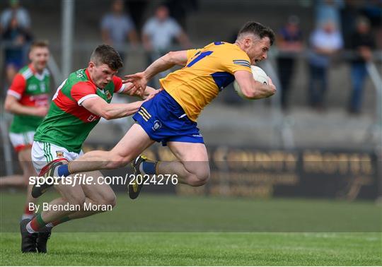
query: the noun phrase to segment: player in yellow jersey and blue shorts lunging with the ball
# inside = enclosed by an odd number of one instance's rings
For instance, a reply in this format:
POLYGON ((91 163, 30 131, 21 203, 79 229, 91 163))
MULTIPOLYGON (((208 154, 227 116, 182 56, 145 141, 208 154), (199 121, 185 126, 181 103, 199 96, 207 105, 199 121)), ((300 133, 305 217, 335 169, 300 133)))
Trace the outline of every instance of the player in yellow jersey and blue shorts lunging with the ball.
MULTIPOLYGON (((145 71, 126 76, 137 90, 147 81, 175 65, 183 69, 160 80, 162 91, 141 105, 134 115, 137 124, 110 151, 91 151, 69 162, 51 167, 47 173, 68 176, 77 172, 113 169, 132 163, 135 174, 177 174, 179 182, 201 186, 209 179, 207 149, 197 129, 197 117, 204 106, 234 79, 243 94, 251 99, 270 97, 276 92, 269 85, 253 79, 250 65, 267 59, 274 32, 260 23, 248 22, 238 32, 234 44, 214 42, 202 49, 169 52, 154 61, 145 71), (168 146, 178 158, 156 162, 139 155, 154 142, 168 146)), ((38 188, 35 188, 38 190, 38 188)), ((130 198, 137 198, 141 184, 132 181, 130 198)), ((49 222, 46 222, 49 223, 49 222)))

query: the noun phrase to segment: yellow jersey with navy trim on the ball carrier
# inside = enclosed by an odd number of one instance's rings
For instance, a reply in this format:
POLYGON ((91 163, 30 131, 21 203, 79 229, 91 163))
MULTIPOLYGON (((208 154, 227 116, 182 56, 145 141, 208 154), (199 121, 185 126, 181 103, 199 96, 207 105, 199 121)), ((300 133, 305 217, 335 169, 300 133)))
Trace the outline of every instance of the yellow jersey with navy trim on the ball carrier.
POLYGON ((162 88, 197 121, 203 108, 235 80, 235 71, 249 71, 250 59, 238 45, 213 42, 187 50, 187 64, 160 80, 162 88))

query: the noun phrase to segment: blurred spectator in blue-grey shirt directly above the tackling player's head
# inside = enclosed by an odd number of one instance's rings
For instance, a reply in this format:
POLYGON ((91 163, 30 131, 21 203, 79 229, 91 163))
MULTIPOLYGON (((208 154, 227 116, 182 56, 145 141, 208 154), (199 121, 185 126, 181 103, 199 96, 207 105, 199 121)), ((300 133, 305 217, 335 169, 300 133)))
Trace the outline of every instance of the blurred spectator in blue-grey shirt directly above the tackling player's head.
POLYGON ((127 39, 131 45, 137 45, 138 37, 132 19, 124 11, 122 0, 112 3, 112 11, 106 14, 101 22, 102 39, 120 53, 124 62, 126 59, 127 39))

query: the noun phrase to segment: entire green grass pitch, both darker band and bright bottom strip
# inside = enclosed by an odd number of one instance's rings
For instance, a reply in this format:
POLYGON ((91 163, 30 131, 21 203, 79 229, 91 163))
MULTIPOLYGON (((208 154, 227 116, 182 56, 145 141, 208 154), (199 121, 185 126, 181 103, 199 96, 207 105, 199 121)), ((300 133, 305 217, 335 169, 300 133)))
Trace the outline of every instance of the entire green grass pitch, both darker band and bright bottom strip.
POLYGON ((49 253, 31 255, 19 252, 23 195, 1 192, 0 265, 382 265, 381 206, 371 202, 147 194, 117 202, 60 225, 49 253))

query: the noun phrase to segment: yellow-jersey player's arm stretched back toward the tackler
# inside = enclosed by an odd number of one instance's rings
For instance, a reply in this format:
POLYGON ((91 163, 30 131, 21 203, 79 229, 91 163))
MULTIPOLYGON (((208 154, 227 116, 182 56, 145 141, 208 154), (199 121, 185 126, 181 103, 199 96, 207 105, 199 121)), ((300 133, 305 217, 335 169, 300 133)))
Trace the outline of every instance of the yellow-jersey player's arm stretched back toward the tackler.
POLYGON ((186 63, 186 50, 168 52, 163 57, 160 57, 151 63, 151 65, 148 66, 145 71, 125 76, 123 83, 132 83, 131 85, 127 86, 127 90, 132 89, 133 87, 136 88, 136 90, 139 90, 140 88, 144 90, 146 88, 147 82, 156 76, 156 74, 161 73, 162 71, 167 71, 175 65, 185 66, 186 63))

